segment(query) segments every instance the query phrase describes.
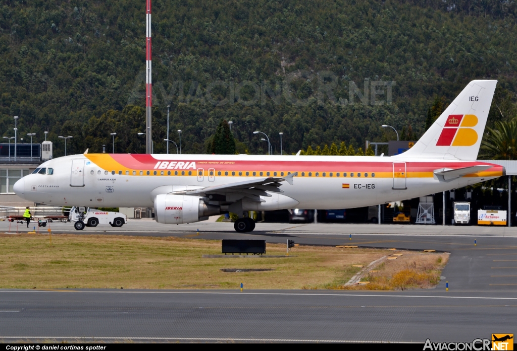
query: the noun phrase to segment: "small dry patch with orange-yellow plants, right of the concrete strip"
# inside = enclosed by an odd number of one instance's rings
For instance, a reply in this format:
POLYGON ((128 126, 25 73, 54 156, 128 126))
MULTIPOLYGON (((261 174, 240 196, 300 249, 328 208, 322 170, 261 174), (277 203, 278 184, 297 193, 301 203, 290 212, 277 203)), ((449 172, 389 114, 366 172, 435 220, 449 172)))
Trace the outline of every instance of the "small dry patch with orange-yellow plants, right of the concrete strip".
MULTIPOLYGON (((393 256, 391 256, 393 257, 393 256)), ((395 260, 379 264, 362 281, 368 285, 347 287, 357 290, 429 289, 437 285, 449 254, 403 252, 395 260)))

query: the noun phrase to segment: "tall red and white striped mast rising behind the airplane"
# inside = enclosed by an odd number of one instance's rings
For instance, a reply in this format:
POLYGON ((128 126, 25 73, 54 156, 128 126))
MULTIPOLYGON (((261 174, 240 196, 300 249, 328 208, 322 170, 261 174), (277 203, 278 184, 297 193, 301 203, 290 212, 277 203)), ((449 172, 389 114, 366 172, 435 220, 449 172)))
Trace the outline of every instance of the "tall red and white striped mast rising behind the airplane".
POLYGON ((153 151, 153 128, 151 126, 151 108, 153 107, 153 86, 151 85, 151 0, 145 6, 145 153, 153 151))

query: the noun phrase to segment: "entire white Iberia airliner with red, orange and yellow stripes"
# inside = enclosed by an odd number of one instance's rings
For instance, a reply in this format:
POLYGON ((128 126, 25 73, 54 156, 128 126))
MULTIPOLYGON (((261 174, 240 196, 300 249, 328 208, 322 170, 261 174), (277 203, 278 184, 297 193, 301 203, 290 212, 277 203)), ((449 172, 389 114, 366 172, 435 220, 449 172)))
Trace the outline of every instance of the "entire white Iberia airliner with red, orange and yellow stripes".
MULTIPOLYGON (((505 175, 476 161, 496 80, 473 80, 408 151, 391 157, 70 155, 42 163, 14 192, 45 205, 154 207, 164 224, 247 211, 354 208, 400 201, 505 175)), ((299 153, 298 153, 299 154, 299 153)), ((84 228, 81 221, 75 228, 84 228)))

